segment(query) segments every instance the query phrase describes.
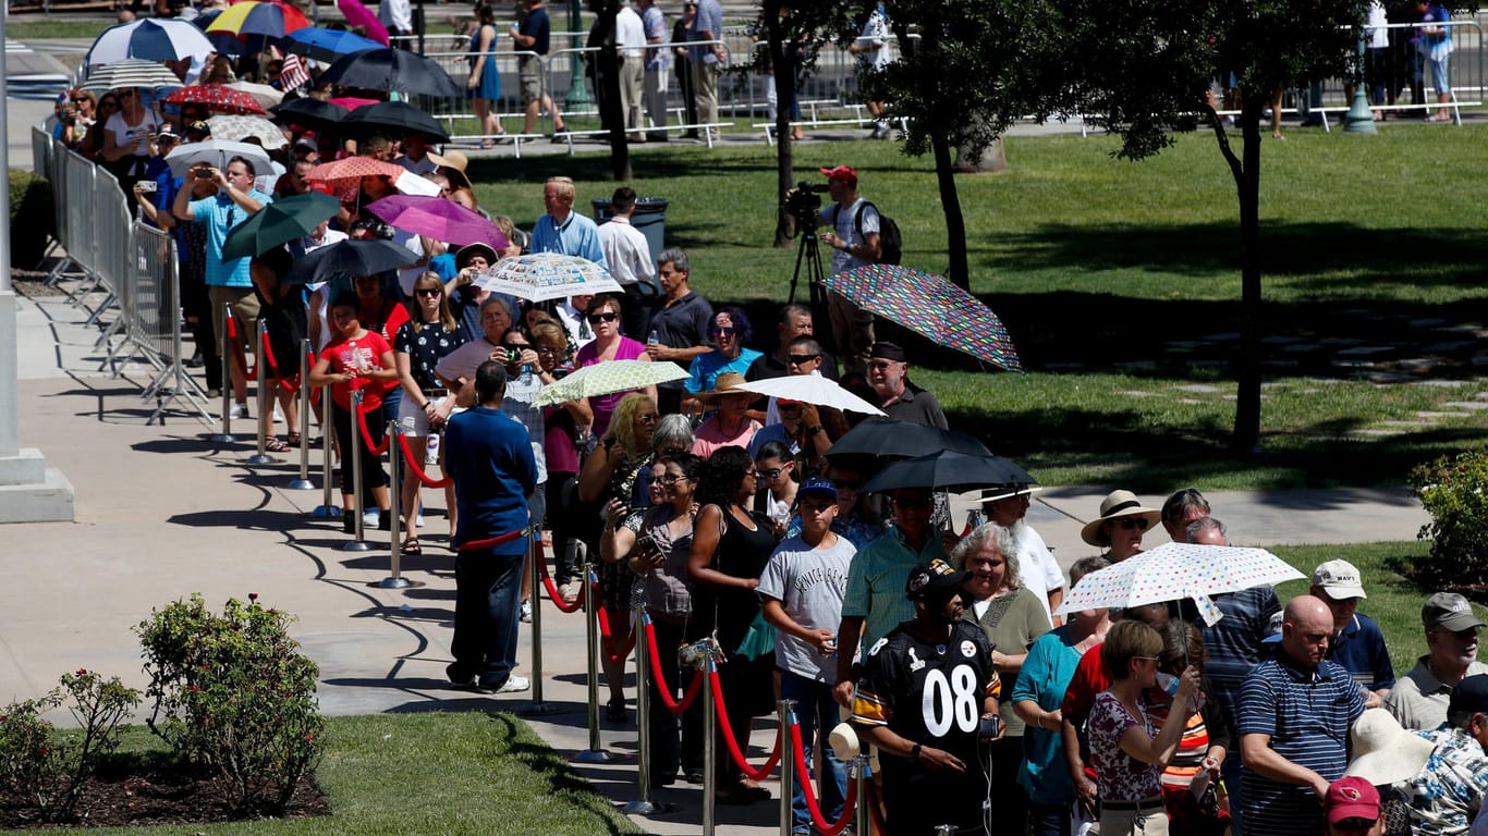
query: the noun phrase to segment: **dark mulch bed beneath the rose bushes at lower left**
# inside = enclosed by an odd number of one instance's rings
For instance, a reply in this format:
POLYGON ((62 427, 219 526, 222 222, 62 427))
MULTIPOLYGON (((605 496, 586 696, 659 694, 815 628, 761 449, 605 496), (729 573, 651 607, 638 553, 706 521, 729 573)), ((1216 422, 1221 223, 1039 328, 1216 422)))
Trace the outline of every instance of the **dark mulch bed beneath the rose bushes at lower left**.
MULTIPOLYGON (((295 788, 289 811, 277 818, 329 815, 330 806, 314 778, 295 788)), ((82 827, 146 824, 211 824, 257 818, 256 811, 234 812, 222 781, 202 778, 173 766, 147 766, 131 774, 103 774, 88 782, 77 806, 82 827)), ((45 827, 34 806, 0 793, 0 829, 45 827)))

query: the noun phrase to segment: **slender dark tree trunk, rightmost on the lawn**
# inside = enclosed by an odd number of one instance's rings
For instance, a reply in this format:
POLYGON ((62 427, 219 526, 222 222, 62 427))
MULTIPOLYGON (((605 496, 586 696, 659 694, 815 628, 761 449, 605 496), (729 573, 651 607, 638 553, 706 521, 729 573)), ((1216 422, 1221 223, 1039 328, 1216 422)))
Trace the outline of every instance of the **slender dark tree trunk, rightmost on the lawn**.
POLYGON ((1244 162, 1237 177, 1240 196, 1240 356, 1235 357, 1235 434, 1241 454, 1260 452, 1260 109, 1266 97, 1245 91, 1241 112, 1244 162))

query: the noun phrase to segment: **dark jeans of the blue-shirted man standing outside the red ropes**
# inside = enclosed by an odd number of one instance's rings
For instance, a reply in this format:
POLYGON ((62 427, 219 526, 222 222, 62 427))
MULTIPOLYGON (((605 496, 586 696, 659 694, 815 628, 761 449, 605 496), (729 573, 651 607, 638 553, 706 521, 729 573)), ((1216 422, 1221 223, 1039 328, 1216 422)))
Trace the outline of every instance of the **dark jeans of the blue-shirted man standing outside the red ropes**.
POLYGON ((469 677, 490 689, 506 684, 516 665, 518 597, 525 555, 490 550, 455 556, 455 663, 449 678, 469 677))

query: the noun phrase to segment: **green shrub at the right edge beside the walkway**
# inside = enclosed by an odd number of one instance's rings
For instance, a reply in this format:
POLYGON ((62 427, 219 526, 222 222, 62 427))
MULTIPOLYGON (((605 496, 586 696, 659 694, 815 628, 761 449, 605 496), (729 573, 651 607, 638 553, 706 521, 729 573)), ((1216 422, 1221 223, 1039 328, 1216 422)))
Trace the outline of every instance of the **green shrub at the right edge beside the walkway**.
POLYGON ((1431 515, 1417 536, 1431 540, 1423 574, 1443 588, 1488 583, 1488 448, 1414 469, 1411 489, 1431 515))

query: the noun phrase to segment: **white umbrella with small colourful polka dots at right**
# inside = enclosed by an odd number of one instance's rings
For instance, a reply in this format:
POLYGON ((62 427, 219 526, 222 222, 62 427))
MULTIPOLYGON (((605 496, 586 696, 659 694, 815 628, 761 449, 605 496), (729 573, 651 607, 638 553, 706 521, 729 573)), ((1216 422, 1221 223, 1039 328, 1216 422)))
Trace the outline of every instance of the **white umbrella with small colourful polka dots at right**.
POLYGON ((1220 611, 1210 595, 1306 577, 1265 549, 1164 543, 1080 579, 1056 614, 1192 599, 1205 623, 1220 611))

